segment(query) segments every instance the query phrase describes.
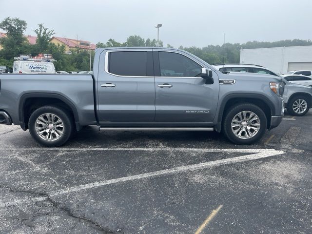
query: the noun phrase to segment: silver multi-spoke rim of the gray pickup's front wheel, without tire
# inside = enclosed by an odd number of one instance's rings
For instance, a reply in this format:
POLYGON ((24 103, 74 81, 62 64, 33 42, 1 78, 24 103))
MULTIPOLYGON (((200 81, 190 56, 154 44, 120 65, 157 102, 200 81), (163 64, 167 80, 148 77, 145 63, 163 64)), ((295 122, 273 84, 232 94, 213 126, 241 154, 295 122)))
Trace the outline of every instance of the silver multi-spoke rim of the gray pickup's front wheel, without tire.
POLYGON ((241 139, 254 137, 260 130, 260 119, 252 111, 239 112, 231 123, 234 135, 241 139))

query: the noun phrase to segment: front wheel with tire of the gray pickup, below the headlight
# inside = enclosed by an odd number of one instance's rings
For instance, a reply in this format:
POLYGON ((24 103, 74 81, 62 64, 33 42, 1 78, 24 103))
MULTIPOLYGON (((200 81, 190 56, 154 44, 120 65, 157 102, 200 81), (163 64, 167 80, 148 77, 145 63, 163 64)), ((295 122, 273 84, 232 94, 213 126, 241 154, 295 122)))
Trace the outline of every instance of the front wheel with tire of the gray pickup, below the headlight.
POLYGON ((223 134, 233 143, 252 144, 259 140, 267 128, 267 117, 258 106, 242 103, 232 106, 223 119, 223 134))

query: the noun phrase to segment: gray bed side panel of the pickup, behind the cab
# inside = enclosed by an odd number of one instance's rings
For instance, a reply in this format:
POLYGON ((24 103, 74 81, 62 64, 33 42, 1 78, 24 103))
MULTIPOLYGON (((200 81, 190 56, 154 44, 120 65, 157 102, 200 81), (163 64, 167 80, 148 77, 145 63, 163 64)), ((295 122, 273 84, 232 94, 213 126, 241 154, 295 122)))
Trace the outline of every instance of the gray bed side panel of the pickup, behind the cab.
POLYGON ((36 96, 38 100, 42 94, 73 105, 77 110, 76 125, 96 124, 94 82, 89 74, 0 74, 0 110, 20 125, 20 110, 27 105, 27 99, 36 96))

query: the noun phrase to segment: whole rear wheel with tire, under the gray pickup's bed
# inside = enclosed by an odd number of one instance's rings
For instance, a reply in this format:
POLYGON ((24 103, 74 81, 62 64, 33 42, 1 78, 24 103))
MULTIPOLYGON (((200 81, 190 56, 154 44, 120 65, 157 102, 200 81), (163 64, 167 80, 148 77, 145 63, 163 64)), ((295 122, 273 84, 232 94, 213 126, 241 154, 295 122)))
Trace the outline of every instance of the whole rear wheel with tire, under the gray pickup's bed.
POLYGON ((71 115, 55 106, 35 110, 29 118, 28 126, 30 135, 47 147, 65 144, 75 130, 71 115))

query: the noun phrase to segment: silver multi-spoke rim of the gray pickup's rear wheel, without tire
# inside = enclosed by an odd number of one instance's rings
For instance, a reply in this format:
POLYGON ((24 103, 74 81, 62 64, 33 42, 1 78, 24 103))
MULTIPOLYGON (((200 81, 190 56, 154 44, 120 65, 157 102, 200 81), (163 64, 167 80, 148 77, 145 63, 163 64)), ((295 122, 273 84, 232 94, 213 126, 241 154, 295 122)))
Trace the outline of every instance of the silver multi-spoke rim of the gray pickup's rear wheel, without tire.
POLYGON ((46 141, 55 141, 63 136, 64 124, 57 115, 46 113, 36 119, 35 130, 46 141))

